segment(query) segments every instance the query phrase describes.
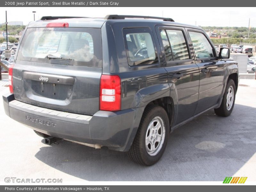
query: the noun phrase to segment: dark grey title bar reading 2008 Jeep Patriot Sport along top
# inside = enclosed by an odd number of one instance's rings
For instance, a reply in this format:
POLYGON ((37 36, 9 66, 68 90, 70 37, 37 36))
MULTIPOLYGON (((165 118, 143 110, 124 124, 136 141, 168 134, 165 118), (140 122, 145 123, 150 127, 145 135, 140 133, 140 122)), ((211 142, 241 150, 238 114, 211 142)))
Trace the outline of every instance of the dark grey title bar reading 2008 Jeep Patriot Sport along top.
MULTIPOLYGON (((5 0, 0 1, 1 7, 254 7, 256 1, 252 0, 193 0, 193 1, 167 1, 167 0, 5 0)), ((171 10, 170 10, 171 11, 171 10)), ((191 9, 193 11, 193 9, 191 9)), ((214 14, 214 13, 212 13, 214 14)))

